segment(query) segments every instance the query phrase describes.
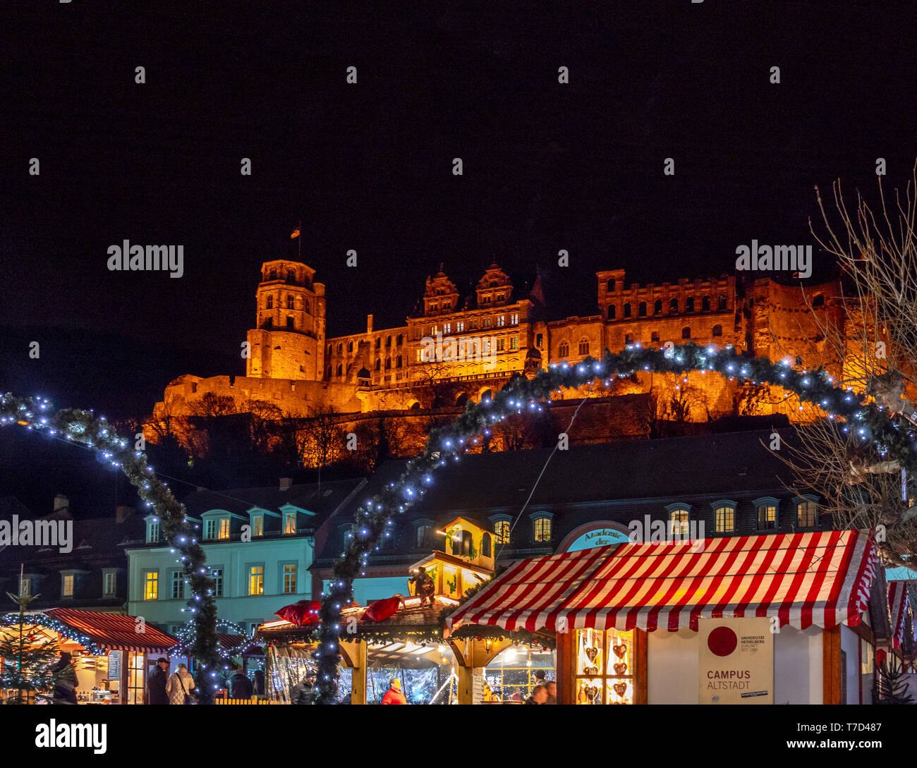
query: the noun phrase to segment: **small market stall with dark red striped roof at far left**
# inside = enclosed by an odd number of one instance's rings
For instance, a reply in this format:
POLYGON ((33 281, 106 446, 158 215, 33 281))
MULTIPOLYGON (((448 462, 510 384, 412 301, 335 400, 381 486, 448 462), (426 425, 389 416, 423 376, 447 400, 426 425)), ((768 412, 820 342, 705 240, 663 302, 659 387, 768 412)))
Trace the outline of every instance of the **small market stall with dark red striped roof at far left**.
POLYGON ((80 704, 144 703, 149 665, 175 644, 170 634, 123 614, 56 608, 25 618, 32 642, 56 641, 71 654, 80 704))

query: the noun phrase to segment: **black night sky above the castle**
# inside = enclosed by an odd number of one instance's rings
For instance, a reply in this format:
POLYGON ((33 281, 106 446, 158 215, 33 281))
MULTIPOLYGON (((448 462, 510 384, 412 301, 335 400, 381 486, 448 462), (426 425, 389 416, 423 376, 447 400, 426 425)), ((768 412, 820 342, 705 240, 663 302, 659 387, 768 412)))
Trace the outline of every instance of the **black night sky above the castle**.
POLYGON ((752 238, 812 243, 815 184, 911 178, 909 3, 178 5, 0 5, 0 389, 149 411, 241 374, 300 219, 340 335, 403 323, 440 262, 463 292, 540 266, 556 316, 594 313, 597 269, 734 272, 752 238), (126 238, 184 276, 108 271, 126 238))

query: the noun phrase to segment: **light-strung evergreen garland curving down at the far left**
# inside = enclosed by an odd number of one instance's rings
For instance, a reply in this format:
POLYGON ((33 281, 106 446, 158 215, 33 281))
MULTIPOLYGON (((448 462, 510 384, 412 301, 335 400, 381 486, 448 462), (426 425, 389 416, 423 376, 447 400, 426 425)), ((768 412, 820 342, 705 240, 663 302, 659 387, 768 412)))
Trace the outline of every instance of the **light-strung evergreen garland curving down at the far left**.
MULTIPOLYGON (((194 638, 188 651, 204 675, 215 677, 216 665, 220 663, 216 646, 216 603, 214 582, 204 568, 204 548, 198 543, 197 526, 185 518, 182 504, 175 499, 165 483, 156 477, 153 468, 149 466, 147 455, 131 447, 127 439, 119 437, 105 421, 105 416, 72 408, 53 411, 48 400, 18 398, 7 392, 0 395, 0 426, 12 424, 59 440, 85 445, 95 451, 100 461, 120 468, 127 475, 138 489, 140 499, 161 521, 165 539, 172 545, 171 551, 179 555, 176 562, 183 565, 186 582, 191 586, 188 610, 193 616, 194 638)), ((57 626, 52 629, 61 631, 57 626)), ((66 632, 61 633, 70 637, 66 632)), ((198 685, 202 704, 213 700, 211 690, 215 687, 198 685)))

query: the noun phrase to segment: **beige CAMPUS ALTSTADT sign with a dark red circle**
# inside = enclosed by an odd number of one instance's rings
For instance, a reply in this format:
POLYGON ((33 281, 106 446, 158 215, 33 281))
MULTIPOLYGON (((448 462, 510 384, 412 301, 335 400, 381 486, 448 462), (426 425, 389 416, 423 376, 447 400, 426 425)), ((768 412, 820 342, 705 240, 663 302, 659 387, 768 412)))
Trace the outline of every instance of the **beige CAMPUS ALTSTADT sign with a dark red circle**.
POLYGON ((768 618, 701 619, 698 635, 698 703, 774 703, 774 636, 768 618))

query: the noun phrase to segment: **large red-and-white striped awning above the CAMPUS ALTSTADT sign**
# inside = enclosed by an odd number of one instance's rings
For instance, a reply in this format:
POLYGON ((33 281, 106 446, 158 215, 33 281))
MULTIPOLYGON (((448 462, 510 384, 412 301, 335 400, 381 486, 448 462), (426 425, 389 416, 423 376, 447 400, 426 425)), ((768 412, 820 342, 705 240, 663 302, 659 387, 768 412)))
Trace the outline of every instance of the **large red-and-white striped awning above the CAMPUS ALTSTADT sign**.
POLYGON ((451 630, 697 630, 698 620, 777 617, 780 626, 856 626, 876 575, 867 532, 623 543, 510 566, 454 611, 451 630))

